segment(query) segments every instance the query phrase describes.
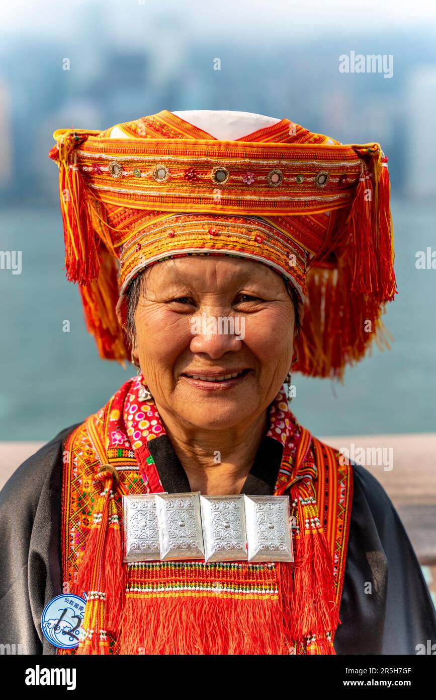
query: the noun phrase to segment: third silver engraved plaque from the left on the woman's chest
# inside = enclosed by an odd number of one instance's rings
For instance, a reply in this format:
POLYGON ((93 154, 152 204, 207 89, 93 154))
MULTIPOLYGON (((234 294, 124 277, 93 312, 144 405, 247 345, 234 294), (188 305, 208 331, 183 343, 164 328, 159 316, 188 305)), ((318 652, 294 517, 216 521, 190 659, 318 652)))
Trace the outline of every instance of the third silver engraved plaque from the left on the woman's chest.
POLYGON ((244 496, 201 496, 205 561, 246 561, 244 496))

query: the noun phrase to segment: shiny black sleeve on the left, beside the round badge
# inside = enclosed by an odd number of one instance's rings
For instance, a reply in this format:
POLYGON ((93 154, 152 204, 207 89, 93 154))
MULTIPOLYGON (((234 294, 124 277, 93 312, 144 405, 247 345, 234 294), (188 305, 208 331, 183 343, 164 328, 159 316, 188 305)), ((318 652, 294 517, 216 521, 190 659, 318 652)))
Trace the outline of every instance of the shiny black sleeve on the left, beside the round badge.
POLYGON ((0 640, 22 654, 56 653, 41 615, 62 592, 62 443, 74 427, 22 463, 0 493, 0 640))

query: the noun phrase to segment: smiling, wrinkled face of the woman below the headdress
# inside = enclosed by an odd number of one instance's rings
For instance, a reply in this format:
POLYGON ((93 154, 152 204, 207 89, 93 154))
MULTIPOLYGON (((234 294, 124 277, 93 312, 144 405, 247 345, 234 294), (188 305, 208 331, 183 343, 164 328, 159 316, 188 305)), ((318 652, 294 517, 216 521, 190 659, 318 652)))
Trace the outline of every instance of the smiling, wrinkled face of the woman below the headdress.
POLYGON ((158 409, 213 430, 263 412, 293 353, 282 277, 260 262, 207 255, 164 260, 145 278, 133 356, 158 409))

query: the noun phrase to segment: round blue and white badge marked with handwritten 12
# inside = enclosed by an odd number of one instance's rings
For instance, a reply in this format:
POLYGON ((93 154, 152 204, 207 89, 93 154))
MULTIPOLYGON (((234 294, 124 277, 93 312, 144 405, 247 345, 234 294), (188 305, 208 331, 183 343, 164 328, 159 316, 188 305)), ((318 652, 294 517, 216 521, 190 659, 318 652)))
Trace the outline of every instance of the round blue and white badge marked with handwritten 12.
POLYGON ((41 617, 45 638, 60 649, 78 647, 85 605, 85 598, 70 593, 52 598, 50 603, 45 605, 41 617))

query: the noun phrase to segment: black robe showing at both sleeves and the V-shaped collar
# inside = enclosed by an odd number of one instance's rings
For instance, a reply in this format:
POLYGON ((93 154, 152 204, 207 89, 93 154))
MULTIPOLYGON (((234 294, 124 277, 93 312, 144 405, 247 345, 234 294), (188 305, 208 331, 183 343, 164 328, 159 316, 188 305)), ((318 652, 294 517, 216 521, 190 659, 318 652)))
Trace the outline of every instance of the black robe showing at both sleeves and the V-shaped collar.
MULTIPOLYGON (((62 442, 74 427, 29 457, 0 493, 0 640, 23 654, 57 651, 41 615, 62 593, 62 442)), ((150 451, 168 493, 191 490, 166 435, 150 451)), ((273 493, 281 456, 282 445, 265 437, 242 493, 273 493)), ((358 465, 340 619, 337 654, 416 654, 416 645, 436 643, 435 608, 409 538, 382 486, 358 465)))

